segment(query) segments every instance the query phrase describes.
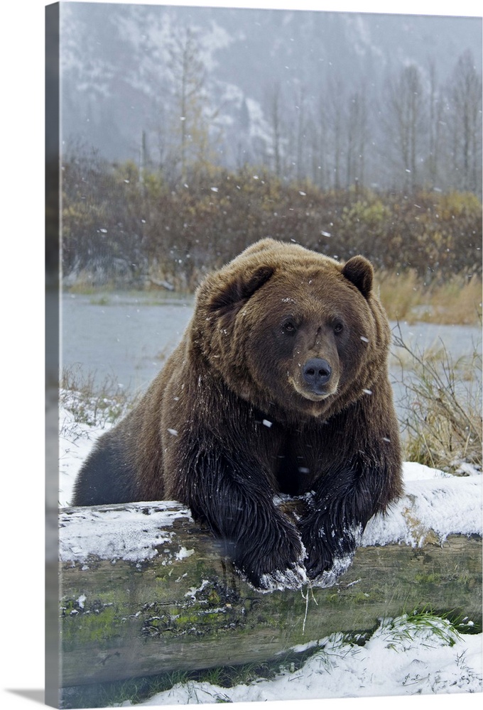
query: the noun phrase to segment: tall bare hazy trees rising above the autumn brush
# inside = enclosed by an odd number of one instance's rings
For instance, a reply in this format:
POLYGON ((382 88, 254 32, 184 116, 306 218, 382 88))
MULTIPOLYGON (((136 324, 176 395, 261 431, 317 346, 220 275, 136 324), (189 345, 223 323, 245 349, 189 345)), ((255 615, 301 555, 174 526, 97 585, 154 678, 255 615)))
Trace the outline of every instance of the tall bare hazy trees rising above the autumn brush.
MULTIPOLYGON (((143 134, 141 165, 185 181, 188 168, 227 167, 224 128, 205 91, 205 66, 196 36, 186 30, 170 52, 170 90, 156 133, 143 134)), ((263 130, 249 138, 249 110, 241 103, 235 169, 264 165, 280 180, 310 180, 321 190, 359 185, 413 191, 420 187, 482 193, 482 75, 470 50, 455 60, 444 85, 435 65, 409 64, 388 74, 384 87, 369 80, 348 89, 347 77, 320 79, 318 96, 303 82, 267 88, 263 130), (295 92, 295 94, 294 94, 295 92)), ((233 167, 233 165, 228 165, 233 167)))

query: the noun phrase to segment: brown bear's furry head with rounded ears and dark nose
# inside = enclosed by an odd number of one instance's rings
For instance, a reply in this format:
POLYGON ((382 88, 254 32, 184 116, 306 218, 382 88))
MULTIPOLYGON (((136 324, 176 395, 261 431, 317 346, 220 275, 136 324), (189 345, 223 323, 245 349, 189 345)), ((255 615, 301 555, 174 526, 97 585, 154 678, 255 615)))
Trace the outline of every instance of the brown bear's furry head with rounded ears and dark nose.
POLYGON ((212 371, 266 412, 327 417, 369 393, 389 326, 371 264, 264 239, 201 285, 195 342, 212 371))

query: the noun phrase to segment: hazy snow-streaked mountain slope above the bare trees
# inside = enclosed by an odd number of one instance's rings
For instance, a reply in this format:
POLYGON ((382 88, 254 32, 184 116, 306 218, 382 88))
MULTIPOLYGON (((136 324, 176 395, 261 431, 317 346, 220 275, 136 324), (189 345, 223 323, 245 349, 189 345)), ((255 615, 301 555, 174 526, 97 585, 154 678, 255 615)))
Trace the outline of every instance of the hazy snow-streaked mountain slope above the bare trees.
POLYGON ((347 92, 370 85, 376 95, 387 72, 409 62, 427 73, 434 60, 440 80, 466 48, 481 64, 474 18, 63 4, 64 138, 102 148, 111 160, 138 158, 143 131, 153 146, 173 92, 169 49, 186 28, 197 38, 210 112, 223 126, 224 160, 232 164, 234 146, 250 134, 268 142, 261 125, 270 120, 275 87, 284 112, 296 116, 300 99, 320 102, 327 80, 347 92), (257 107, 248 119, 246 106, 257 107))

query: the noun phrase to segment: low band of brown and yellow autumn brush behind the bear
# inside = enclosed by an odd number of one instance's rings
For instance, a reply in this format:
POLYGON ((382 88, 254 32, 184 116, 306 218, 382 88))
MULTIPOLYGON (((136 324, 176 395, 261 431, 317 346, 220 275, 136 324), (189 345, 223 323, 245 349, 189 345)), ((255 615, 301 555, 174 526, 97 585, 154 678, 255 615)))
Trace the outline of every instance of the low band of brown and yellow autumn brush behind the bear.
POLYGON ((248 166, 207 166, 172 184, 95 155, 63 165, 66 285, 192 291, 205 273, 264 236, 296 241, 431 282, 481 274, 482 204, 472 192, 322 191, 248 166))

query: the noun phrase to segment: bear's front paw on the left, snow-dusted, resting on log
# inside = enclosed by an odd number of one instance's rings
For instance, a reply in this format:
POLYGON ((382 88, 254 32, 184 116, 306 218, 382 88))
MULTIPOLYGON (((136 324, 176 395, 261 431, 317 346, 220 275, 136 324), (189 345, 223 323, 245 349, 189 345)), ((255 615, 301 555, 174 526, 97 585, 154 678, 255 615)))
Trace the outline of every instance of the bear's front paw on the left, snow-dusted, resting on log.
POLYGON ((281 530, 272 544, 260 545, 245 552, 243 559, 234 559, 235 567, 257 591, 300 589, 307 583, 303 560, 305 550, 295 530, 281 530))

